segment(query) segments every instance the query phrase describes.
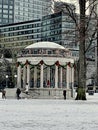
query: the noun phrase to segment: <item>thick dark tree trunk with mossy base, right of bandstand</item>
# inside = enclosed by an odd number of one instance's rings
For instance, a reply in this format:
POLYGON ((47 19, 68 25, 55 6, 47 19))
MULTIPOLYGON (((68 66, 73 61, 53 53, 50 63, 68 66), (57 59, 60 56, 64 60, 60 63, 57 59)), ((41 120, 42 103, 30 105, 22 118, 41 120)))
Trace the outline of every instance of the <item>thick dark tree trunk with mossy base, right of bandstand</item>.
POLYGON ((79 6, 80 6, 79 86, 77 90, 76 100, 86 100, 85 5, 86 0, 79 0, 79 6))

